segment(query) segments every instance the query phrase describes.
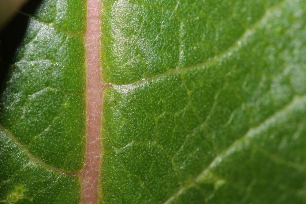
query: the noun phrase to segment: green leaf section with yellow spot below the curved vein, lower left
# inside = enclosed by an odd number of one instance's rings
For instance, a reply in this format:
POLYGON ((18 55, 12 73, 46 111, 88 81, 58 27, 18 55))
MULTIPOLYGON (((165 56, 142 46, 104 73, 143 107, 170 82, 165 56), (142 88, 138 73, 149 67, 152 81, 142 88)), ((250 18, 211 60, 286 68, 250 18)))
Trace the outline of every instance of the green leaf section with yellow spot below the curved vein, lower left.
POLYGON ((47 169, 29 158, 25 153, 27 151, 14 143, 9 133, 0 130, 1 203, 79 202, 80 182, 77 176, 47 169))

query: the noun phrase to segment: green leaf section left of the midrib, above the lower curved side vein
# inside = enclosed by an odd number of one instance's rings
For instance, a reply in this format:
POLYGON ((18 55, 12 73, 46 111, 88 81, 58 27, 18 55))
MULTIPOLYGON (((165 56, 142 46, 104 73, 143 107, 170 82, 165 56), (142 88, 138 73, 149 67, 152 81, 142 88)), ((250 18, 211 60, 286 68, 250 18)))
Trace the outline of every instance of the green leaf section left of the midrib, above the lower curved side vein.
POLYGON ((72 33, 84 34, 86 25, 69 9, 85 13, 86 4, 53 2, 30 17, 2 93, 0 123, 35 157, 77 171, 84 162, 86 70, 84 40, 72 33))

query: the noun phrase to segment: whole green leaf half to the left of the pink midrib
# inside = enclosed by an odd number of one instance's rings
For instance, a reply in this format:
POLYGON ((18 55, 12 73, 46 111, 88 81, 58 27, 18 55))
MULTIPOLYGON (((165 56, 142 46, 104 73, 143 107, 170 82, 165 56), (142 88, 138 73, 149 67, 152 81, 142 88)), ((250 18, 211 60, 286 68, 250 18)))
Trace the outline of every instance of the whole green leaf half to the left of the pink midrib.
POLYGON ((29 17, 0 99, 0 203, 80 202, 85 31, 85 1, 43 1, 29 17))

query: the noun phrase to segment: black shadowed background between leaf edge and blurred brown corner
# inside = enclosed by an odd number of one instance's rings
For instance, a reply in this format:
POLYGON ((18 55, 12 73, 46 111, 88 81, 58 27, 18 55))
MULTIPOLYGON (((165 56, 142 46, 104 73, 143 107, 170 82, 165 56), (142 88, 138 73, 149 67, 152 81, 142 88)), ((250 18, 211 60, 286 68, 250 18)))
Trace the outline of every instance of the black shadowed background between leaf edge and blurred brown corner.
MULTIPOLYGON (((42 0, 30 0, 20 10, 32 15, 41 2, 42 0)), ((24 38, 28 20, 29 17, 16 13, 3 28, 0 28, 0 93, 11 69, 10 65, 14 63, 15 52, 24 38)))

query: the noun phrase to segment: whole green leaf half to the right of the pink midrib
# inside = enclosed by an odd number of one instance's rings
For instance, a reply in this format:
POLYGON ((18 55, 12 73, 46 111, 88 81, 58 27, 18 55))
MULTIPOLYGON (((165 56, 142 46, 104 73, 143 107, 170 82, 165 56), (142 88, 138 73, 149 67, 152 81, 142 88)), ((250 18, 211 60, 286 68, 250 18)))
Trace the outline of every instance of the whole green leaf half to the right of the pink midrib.
POLYGON ((305 9, 103 1, 101 203, 306 202, 305 9))

